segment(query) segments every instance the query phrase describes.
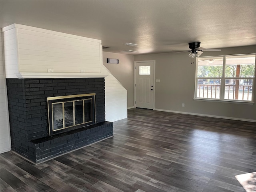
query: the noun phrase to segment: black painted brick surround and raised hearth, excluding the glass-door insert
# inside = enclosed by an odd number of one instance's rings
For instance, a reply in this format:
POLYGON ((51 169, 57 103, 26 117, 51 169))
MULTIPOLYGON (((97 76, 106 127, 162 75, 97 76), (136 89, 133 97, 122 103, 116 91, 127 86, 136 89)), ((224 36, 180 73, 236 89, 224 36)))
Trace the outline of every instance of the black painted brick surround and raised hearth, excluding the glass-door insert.
POLYGON ((12 150, 40 163, 113 136, 105 121, 104 78, 6 79, 12 150), (95 93, 94 125, 49 136, 47 97, 95 93))

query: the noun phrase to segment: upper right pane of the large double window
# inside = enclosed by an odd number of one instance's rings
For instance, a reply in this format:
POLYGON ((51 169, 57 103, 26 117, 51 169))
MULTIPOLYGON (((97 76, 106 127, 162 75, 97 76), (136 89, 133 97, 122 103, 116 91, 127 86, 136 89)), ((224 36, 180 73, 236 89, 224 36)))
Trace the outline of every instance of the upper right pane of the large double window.
POLYGON ((254 77, 255 55, 227 56, 225 77, 254 77))

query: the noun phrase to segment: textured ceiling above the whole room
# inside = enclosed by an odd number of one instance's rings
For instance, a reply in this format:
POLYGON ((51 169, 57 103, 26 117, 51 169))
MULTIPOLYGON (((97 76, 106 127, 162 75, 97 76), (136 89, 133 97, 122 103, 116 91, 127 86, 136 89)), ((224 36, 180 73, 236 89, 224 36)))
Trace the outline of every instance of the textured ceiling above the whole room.
POLYGON ((256 0, 1 0, 0 8, 1 28, 17 23, 96 38, 108 52, 256 44, 256 0))

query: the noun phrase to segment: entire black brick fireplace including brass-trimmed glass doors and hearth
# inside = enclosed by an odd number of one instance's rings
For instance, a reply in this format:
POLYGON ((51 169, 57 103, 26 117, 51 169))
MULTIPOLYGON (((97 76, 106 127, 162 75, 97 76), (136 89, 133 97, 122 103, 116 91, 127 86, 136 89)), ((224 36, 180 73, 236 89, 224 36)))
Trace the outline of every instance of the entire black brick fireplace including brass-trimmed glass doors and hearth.
POLYGON ((12 150, 36 164, 113 136, 104 78, 9 78, 6 84, 12 150))

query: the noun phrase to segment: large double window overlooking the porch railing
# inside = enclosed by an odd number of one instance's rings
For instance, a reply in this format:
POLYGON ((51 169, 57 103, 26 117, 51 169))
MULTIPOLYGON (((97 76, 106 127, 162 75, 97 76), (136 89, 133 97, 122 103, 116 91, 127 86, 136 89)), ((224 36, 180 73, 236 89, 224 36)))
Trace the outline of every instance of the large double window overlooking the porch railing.
POLYGON ((200 57, 195 98, 252 102, 255 54, 200 57))

